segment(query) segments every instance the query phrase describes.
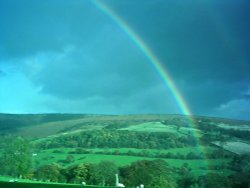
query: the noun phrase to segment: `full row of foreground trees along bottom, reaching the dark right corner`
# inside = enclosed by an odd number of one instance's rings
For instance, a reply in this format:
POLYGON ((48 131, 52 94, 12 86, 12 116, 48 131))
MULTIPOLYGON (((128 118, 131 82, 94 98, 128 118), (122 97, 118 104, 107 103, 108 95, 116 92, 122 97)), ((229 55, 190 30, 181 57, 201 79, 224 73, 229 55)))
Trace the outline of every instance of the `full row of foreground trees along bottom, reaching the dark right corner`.
POLYGON ((46 182, 86 182, 88 185, 114 186, 116 173, 126 187, 143 184, 149 188, 238 188, 250 185, 249 171, 237 172, 230 176, 208 173, 197 177, 187 163, 180 168, 171 168, 160 159, 136 161, 124 167, 117 167, 112 161, 77 164, 66 168, 53 163, 36 169, 33 178, 46 182))

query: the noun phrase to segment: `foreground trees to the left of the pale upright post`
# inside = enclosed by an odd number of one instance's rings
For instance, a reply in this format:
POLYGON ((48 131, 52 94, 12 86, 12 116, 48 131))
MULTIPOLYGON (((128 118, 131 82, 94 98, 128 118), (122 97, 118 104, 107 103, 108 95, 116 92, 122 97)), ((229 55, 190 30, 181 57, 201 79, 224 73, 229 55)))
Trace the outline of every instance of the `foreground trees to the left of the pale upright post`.
POLYGON ((99 164, 78 164, 63 168, 57 163, 41 166, 34 172, 34 178, 40 181, 76 183, 89 185, 114 186, 118 167, 112 161, 99 164))

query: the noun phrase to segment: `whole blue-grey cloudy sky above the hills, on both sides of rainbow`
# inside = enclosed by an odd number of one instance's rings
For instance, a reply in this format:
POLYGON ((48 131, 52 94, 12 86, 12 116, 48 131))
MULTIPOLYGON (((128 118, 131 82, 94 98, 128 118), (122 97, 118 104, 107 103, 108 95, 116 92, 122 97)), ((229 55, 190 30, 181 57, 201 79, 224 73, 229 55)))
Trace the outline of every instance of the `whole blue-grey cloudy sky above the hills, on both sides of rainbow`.
MULTIPOLYGON (((248 0, 103 0, 193 114, 250 120, 248 0)), ((131 38, 90 0, 0 1, 1 113, 181 113, 131 38)))

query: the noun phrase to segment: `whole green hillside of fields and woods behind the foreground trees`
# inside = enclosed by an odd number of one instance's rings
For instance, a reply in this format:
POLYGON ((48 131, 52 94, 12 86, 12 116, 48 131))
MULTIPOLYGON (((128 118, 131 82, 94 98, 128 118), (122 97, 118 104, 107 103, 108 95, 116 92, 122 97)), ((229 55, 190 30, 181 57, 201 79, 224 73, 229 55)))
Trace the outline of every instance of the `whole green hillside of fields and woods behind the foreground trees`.
MULTIPOLYGON (((90 168, 84 173, 91 177, 94 173, 91 168, 103 161, 111 161, 128 185, 133 180, 124 174, 124 169, 142 161, 156 165, 160 160, 177 183, 186 173, 201 184, 200 179, 207 174, 231 178, 250 169, 246 152, 250 148, 250 122, 200 116, 192 117, 192 122, 190 125, 188 117, 181 115, 0 114, 0 138, 2 150, 9 144, 4 145, 5 135, 12 136, 11 139, 28 138, 32 144, 33 173, 27 177, 39 177, 43 181, 50 181, 47 174, 57 169, 61 173, 57 181, 70 183, 74 177, 72 168, 81 169, 81 165, 90 168), (51 170, 47 172, 47 168, 51 170)), ((100 185, 100 180, 86 181, 100 185)), ((80 185, 4 181, 0 186, 80 185)))

